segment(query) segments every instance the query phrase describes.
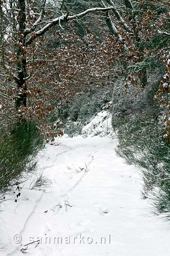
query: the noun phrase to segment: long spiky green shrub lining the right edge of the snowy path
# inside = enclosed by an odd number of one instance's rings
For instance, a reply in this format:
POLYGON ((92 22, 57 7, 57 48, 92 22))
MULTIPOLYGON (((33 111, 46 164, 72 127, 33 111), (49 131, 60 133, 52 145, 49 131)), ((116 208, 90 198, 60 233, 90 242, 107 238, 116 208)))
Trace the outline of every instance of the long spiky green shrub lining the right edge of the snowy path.
POLYGON ((154 213, 165 213, 170 219, 170 145, 164 140, 161 112, 151 100, 154 87, 142 90, 135 100, 127 96, 125 105, 118 102, 113 107, 113 127, 119 140, 116 152, 126 163, 140 168, 142 195, 151 200, 154 213), (121 104, 124 115, 119 114, 121 104))

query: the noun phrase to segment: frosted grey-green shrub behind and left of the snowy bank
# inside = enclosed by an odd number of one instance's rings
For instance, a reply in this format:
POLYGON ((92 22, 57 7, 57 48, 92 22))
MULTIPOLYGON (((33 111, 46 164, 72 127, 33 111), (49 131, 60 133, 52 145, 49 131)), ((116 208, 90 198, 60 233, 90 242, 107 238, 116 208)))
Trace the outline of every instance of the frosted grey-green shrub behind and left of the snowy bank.
MULTIPOLYGON (((56 123, 63 121, 64 132, 70 137, 81 133, 82 127, 98 113, 107 102, 111 101, 112 86, 91 89, 88 92, 77 94, 72 101, 58 106, 56 123)), ((56 129, 58 126, 56 125, 56 129)))

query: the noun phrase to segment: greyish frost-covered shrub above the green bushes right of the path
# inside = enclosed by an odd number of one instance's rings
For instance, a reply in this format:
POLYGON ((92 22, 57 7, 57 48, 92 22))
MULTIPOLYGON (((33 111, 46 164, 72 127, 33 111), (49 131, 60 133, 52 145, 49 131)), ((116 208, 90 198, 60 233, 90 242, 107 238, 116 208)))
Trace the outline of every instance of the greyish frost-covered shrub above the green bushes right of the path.
POLYGON ((112 125, 116 131, 121 127, 122 122, 128 119, 134 119, 135 116, 146 114, 157 118, 160 113, 158 104, 153 102, 153 97, 157 85, 150 84, 146 88, 138 88, 129 85, 128 92, 125 93, 124 84, 120 83, 119 87, 113 93, 112 104, 112 125))

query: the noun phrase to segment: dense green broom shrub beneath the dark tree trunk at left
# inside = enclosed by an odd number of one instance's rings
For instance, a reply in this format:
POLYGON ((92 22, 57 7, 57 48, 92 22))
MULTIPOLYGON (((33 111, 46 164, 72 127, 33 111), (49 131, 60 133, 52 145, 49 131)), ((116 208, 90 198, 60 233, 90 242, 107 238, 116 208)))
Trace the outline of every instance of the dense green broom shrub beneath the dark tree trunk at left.
POLYGON ((1 132, 0 147, 0 191, 4 194, 23 174, 36 169, 35 157, 44 147, 44 140, 35 123, 18 122, 10 133, 1 132))

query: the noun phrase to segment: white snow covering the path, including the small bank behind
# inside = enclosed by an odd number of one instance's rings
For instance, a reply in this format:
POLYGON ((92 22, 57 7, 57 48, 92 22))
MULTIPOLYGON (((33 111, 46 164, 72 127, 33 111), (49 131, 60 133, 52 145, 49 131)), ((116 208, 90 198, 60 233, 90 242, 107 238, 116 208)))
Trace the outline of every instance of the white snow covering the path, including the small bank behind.
POLYGON ((1 205, 1 256, 170 255, 170 226, 148 215, 138 171, 116 156, 116 139, 99 136, 100 129, 108 134, 110 121, 102 111, 83 137, 65 135, 39 154, 52 186, 24 186, 17 202, 13 195, 1 205))

